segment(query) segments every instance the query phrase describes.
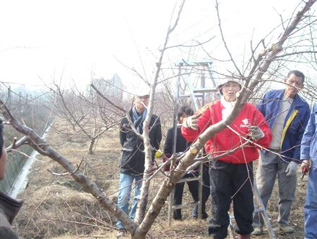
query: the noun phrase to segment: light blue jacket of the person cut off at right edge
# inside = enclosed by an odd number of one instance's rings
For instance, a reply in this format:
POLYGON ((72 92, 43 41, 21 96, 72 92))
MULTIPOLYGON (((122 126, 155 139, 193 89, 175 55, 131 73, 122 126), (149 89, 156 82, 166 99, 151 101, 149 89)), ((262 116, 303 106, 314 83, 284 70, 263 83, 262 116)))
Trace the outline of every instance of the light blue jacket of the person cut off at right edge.
POLYGON ((301 160, 311 159, 314 164, 317 164, 317 102, 313 103, 311 109, 311 117, 307 124, 301 146, 301 160))

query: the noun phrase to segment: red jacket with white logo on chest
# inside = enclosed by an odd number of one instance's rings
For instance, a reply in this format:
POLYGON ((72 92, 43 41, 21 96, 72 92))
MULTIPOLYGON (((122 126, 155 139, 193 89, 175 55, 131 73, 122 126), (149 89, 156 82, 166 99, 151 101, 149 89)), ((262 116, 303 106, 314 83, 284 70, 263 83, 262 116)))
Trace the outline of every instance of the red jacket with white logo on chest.
MULTIPOLYGON (((197 119, 198 129, 194 130, 187 127, 182 127, 182 136, 187 141, 196 141, 197 137, 201 132, 205 131, 209 126, 216 124, 222 120, 223 105, 220 101, 216 103, 209 103, 201 109, 201 116, 197 119)), ((235 129, 242 136, 246 136, 249 133, 249 125, 257 125, 263 131, 265 136, 260 138, 255 143, 268 148, 271 143, 271 130, 266 124, 266 120, 263 115, 256 107, 250 103, 246 103, 242 108, 239 115, 232 122, 230 127, 235 129)), ((242 145, 245 140, 235 134, 231 129, 223 129, 218 134, 215 134, 205 144, 206 152, 211 154, 211 157, 221 155, 228 150, 232 150, 242 145)), ((259 147, 253 143, 244 146, 243 148, 237 149, 234 152, 219 157, 218 160, 229 162, 232 164, 243 164, 249 163, 259 158, 259 147)))

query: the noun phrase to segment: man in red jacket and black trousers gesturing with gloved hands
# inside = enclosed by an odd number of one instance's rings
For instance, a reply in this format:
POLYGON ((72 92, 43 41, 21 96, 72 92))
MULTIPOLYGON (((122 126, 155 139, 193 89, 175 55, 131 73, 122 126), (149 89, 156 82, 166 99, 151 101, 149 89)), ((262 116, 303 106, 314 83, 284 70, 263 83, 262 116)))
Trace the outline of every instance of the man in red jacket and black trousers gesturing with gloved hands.
MULTIPOLYGON (((182 136, 187 141, 195 141, 209 126, 230 115, 241 84, 236 79, 228 79, 225 84, 218 86, 218 90, 222 95, 220 101, 205 105, 200 114, 187 117, 182 124, 182 136)), ((209 138, 205 145, 211 158, 209 175, 212 217, 209 221, 209 235, 213 238, 225 238, 228 235, 228 210, 233 200, 237 233, 240 238, 250 238, 254 211, 252 161, 259 158, 259 148, 253 143, 239 147, 246 141, 242 136, 263 147, 268 147, 272 136, 263 115, 250 103, 245 103, 230 128, 209 138), (229 150, 232 153, 217 157, 229 150)))

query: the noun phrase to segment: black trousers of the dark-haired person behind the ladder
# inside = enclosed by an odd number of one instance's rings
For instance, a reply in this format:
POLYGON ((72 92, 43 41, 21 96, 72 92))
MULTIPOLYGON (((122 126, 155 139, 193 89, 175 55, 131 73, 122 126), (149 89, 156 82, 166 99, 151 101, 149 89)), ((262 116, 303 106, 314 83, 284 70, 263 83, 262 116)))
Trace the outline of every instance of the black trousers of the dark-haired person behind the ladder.
MULTIPOLYGON (((199 173, 195 172, 194 174, 185 174, 183 176, 184 178, 192 178, 192 177, 198 177, 199 173)), ((192 194, 192 198, 194 202, 198 202, 198 189, 199 189, 199 181, 189 181, 186 182, 189 188, 189 192, 192 194)), ((201 216, 203 219, 206 219, 208 217, 208 214, 206 214, 206 201, 209 198, 210 195, 210 181, 209 181, 209 167, 205 166, 203 167, 203 188, 202 188, 202 203, 201 203, 201 216)), ((182 204, 182 193, 184 191, 185 183, 177 183, 175 185, 175 191, 174 191, 174 200, 173 205, 181 205, 182 204)), ((198 206, 196 205, 192 210, 192 217, 198 216, 198 206)), ((175 209, 173 211, 173 219, 182 219, 182 211, 181 209, 175 209)))

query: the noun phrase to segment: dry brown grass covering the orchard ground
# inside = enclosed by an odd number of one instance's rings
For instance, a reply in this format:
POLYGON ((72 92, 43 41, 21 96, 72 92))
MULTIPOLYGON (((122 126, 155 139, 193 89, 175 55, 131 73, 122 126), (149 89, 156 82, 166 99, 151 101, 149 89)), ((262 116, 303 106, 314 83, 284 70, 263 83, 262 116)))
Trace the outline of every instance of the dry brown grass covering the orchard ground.
MULTIPOLYGON (((58 129, 63 129, 63 122, 56 122, 58 129)), ((118 159, 120 143, 118 129, 107 131, 94 150, 94 155, 87 155, 89 141, 86 136, 76 136, 68 143, 61 142, 64 138, 56 131, 49 133, 47 141, 66 156, 73 164, 82 162, 81 170, 89 179, 96 182, 114 202, 118 189, 118 159)), ((45 162, 35 162, 29 176, 26 190, 19 195, 25 200, 23 207, 15 219, 14 226, 22 238, 116 238, 115 219, 99 206, 92 195, 85 193, 70 176, 53 176, 47 171, 65 172, 56 162, 49 158, 38 156, 45 162)), ((256 164, 254 165, 256 168, 256 164)), ((149 200, 158 190, 162 177, 151 182, 149 200)), ((296 232, 292 235, 280 235, 278 238, 304 237, 304 191, 306 179, 299 180, 297 199, 293 206, 290 221, 296 232)), ((277 190, 275 188, 268 209, 273 226, 277 226, 277 190)), ((185 186, 184 202, 190 202, 192 197, 185 186)), ((207 202, 210 214, 210 200, 207 202)), ((208 238, 207 221, 191 219, 191 208, 182 209, 185 220, 173 221, 168 226, 168 206, 161 209, 161 214, 149 231, 149 238, 208 238)), ((128 238, 128 236, 126 237, 128 238)), ((268 238, 263 235, 256 238, 268 238)))

